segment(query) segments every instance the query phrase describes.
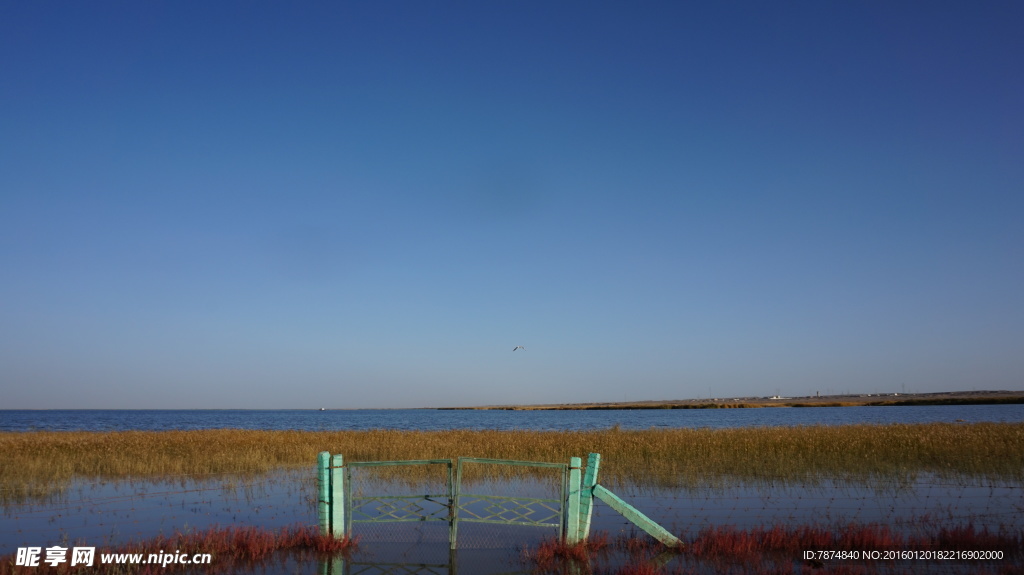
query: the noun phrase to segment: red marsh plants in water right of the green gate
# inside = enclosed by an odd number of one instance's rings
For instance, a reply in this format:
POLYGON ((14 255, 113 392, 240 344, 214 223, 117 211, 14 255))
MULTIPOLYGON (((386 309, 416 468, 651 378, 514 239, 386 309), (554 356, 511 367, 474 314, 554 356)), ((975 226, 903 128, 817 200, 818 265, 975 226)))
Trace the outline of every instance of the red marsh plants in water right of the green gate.
MULTIPOLYGON (((606 541, 606 535, 602 534, 606 541)), ((684 537, 684 541, 687 539, 684 537)), ((606 543, 603 543, 606 547, 606 543)), ((1024 575, 1024 529, 976 528, 971 524, 905 534, 886 525, 847 524, 834 527, 772 525, 739 529, 708 527, 682 549, 670 549, 646 536, 622 537, 597 559, 580 545, 549 541, 540 554, 527 554, 540 573, 653 575, 656 573, 729 573, 743 575, 873 575, 943 573, 1024 575), (1000 551, 992 561, 882 561, 868 559, 805 560, 805 551, 984 550, 1000 551), (538 561, 542 560, 542 561, 538 561)), ((540 549, 539 549, 540 550, 540 549)), ((861 556, 862 557, 862 556, 861 556)))

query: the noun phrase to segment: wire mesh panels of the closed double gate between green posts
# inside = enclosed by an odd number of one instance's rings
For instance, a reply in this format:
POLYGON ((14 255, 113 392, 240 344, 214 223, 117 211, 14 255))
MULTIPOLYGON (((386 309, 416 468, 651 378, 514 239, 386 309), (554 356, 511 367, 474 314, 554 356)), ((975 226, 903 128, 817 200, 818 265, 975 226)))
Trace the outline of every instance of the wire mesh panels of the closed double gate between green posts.
MULTIPOLYGON (((566 466, 508 465, 470 460, 459 480, 458 550, 450 549, 449 483, 441 463, 360 466, 347 469, 351 534, 358 538, 346 573, 454 573, 483 552, 489 566, 495 552, 508 555, 557 536, 561 529, 566 466)), ((479 559, 479 557, 477 557, 479 559)))

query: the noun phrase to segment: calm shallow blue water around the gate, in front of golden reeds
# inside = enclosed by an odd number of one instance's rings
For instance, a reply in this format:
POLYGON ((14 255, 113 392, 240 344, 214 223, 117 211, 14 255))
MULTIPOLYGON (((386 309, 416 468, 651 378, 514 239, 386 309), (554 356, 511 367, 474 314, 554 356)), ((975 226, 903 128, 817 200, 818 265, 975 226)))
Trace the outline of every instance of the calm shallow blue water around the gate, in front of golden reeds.
MULTIPOLYGON (((207 476, 159 482, 79 482, 50 501, 6 505, 0 517, 0 556, 18 546, 47 546, 61 541, 102 545, 218 525, 268 529, 315 525, 313 478, 313 470, 289 470, 249 480, 207 476)), ((364 487, 365 493, 373 494, 415 492, 402 483, 375 481, 364 487)), ((550 483, 543 481, 504 485, 481 482, 465 487, 464 492, 528 497, 550 488, 550 483)), ((614 491, 684 538, 711 526, 748 528, 776 523, 879 523, 911 533, 943 525, 1024 526, 1021 486, 982 479, 951 481, 925 476, 869 486, 821 479, 814 484, 737 482, 686 491, 640 487, 614 491)), ((593 531, 614 536, 635 533, 636 528, 597 502, 593 531)), ((396 565, 406 565, 393 572, 447 573, 445 566, 453 561, 464 573, 526 572, 519 561, 521 549, 556 533, 556 528, 461 522, 458 552, 450 555, 446 522, 355 524, 353 535, 360 538, 360 545, 345 560, 345 572, 388 572, 398 569, 396 565)), ((340 569, 339 561, 322 565, 311 556, 286 556, 246 571, 323 572, 340 569)))

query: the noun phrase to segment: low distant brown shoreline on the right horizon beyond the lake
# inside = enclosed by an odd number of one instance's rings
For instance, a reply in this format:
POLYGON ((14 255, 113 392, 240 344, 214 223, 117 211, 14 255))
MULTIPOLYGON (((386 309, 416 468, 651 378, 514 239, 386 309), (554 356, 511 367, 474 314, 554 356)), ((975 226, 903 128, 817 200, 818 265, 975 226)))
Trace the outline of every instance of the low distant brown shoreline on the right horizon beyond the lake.
POLYGON ((957 391, 937 393, 849 394, 806 397, 732 397, 608 403, 484 405, 434 409, 592 410, 592 409, 728 409, 753 407, 859 407, 890 405, 997 405, 1024 403, 1024 391, 957 391))

